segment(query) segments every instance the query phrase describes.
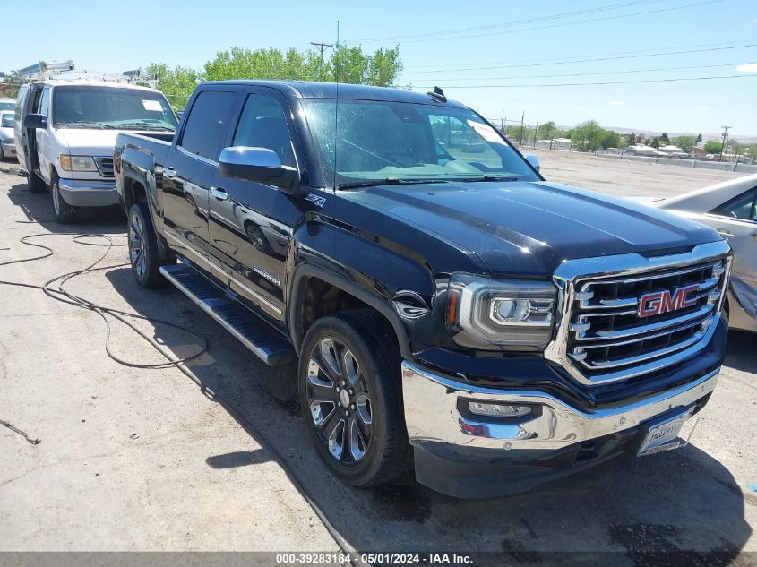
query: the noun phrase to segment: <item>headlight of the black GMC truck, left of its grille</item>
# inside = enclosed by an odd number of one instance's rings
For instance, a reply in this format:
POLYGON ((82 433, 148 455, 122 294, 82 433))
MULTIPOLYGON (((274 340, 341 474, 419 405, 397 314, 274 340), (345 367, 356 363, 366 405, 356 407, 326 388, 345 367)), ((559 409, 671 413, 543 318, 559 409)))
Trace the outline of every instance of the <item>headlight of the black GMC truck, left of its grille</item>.
POLYGON ((552 338, 557 288, 550 281, 450 278, 447 325, 464 348, 536 351, 552 338))

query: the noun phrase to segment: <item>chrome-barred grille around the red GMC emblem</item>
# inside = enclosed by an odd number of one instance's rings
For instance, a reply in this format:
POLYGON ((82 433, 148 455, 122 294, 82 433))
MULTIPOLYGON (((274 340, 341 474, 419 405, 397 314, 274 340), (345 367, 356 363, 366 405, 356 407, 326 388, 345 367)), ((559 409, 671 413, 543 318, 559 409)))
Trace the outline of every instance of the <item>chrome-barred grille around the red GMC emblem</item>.
POLYGON ((628 278, 577 278, 569 305, 566 352, 571 363, 599 382, 611 373, 642 374, 648 363, 692 347, 718 314, 726 278, 726 260, 628 278), (642 296, 674 294, 686 287, 692 289, 692 305, 663 314, 638 314, 642 296))

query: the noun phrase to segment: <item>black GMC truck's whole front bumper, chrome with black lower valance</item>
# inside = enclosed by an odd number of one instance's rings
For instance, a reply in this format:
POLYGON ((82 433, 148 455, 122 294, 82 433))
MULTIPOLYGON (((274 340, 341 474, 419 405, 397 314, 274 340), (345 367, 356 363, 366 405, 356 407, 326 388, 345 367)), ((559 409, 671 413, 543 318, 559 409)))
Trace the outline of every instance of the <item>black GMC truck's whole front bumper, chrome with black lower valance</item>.
POLYGON ((474 386, 404 361, 405 421, 417 480, 462 498, 529 490, 619 454, 653 417, 674 408, 701 408, 715 389, 718 372, 641 401, 589 413, 546 392, 474 386), (528 405, 533 410, 517 418, 474 416, 467 412, 469 401, 528 405))

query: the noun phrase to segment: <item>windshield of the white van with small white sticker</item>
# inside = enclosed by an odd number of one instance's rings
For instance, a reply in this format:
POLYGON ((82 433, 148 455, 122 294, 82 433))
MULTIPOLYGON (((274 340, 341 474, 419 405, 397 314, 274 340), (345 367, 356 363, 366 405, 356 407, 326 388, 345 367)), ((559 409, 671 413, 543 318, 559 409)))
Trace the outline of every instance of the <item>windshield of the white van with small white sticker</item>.
POLYGON ((53 118, 57 128, 176 129, 174 111, 159 92, 117 87, 57 87, 53 118))

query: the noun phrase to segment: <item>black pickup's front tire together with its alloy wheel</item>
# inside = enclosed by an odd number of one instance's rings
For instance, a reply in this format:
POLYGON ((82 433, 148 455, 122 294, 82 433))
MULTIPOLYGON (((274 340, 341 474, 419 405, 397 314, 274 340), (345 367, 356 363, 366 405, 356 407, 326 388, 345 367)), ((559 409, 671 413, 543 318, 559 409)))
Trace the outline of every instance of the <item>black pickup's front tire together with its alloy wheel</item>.
POLYGON ((305 424, 331 473, 347 485, 383 485, 412 463, 393 330, 371 309, 314 322, 299 361, 305 424))

